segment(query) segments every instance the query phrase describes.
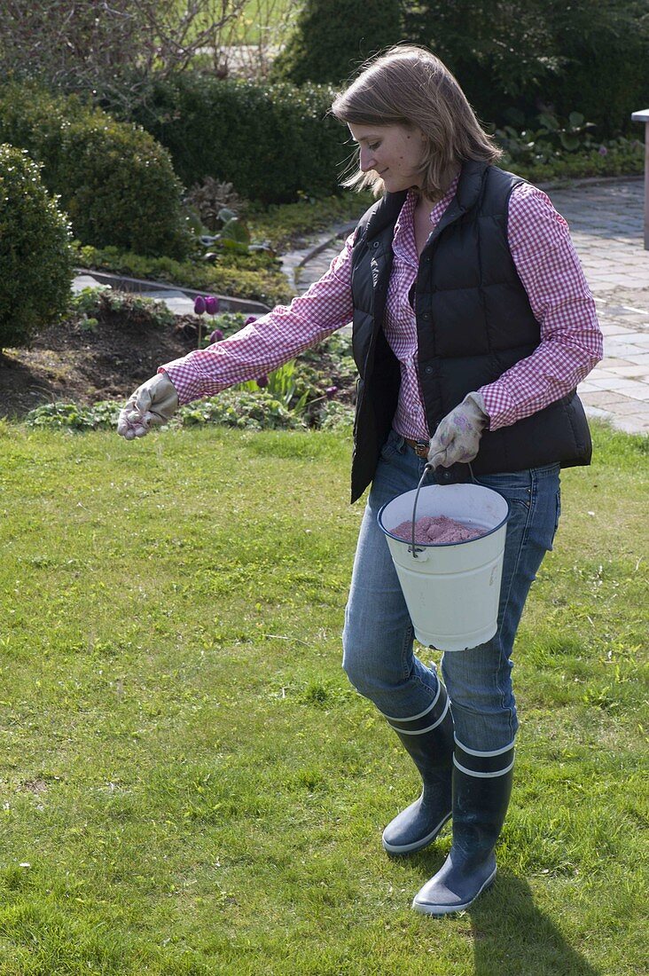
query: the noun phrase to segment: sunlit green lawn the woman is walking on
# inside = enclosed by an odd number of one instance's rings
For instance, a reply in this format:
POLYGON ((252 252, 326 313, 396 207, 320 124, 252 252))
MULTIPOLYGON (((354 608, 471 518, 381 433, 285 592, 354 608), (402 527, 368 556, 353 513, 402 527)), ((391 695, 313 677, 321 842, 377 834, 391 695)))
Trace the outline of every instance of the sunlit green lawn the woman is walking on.
POLYGON ((431 919, 450 835, 385 856, 417 780, 340 666, 348 441, 0 433, 2 976, 646 972, 646 439, 564 472, 500 873, 431 919))

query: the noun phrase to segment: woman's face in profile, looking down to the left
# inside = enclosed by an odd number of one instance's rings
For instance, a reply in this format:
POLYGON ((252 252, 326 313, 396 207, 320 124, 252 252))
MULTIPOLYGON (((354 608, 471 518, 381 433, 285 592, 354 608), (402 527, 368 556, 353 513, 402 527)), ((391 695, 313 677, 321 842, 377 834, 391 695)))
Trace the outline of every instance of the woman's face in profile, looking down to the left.
POLYGON ((388 193, 419 185, 417 168, 425 148, 421 129, 400 125, 349 125, 348 128, 360 147, 363 173, 371 170, 378 173, 388 193))

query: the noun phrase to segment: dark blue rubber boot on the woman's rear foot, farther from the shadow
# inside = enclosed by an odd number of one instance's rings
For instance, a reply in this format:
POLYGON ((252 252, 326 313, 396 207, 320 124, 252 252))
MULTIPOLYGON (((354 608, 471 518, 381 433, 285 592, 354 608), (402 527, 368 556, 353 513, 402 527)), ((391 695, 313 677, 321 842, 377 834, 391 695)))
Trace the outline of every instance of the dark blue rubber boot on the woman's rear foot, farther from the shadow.
POLYGON ((419 799, 385 828, 385 850, 395 856, 412 854, 432 843, 451 816, 453 718, 446 689, 441 682, 437 688, 437 697, 426 712, 412 718, 387 718, 424 782, 419 799))

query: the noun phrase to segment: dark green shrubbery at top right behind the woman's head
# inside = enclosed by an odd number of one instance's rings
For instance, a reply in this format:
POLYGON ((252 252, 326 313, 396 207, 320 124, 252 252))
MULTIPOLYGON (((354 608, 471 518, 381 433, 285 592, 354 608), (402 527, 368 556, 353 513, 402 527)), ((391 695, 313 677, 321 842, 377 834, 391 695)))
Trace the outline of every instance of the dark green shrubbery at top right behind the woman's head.
POLYGON ((649 0, 423 0, 404 5, 404 36, 456 74, 478 115, 502 125, 574 108, 599 137, 632 132, 649 91, 649 0))

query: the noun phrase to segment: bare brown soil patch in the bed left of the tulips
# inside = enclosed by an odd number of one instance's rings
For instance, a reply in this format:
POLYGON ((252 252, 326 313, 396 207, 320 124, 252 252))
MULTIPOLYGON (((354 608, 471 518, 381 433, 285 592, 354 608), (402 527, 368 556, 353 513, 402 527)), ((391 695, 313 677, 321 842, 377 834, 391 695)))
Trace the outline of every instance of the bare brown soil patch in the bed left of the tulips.
POLYGON ((70 321, 51 325, 31 348, 0 352, 0 417, 20 420, 57 400, 125 400, 158 366, 195 347, 191 316, 167 328, 119 318, 95 330, 70 321))

